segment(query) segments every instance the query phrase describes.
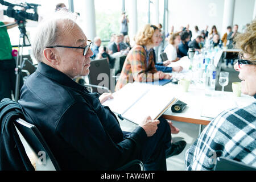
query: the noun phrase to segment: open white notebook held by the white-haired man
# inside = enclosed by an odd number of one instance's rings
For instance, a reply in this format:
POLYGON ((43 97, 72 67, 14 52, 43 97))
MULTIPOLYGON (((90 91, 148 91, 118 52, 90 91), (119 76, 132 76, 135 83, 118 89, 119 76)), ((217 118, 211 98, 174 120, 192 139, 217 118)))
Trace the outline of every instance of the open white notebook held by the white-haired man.
POLYGON ((139 125, 148 115, 154 120, 158 119, 177 99, 171 94, 168 87, 129 83, 122 89, 113 93, 113 99, 105 101, 102 105, 119 115, 139 125))

